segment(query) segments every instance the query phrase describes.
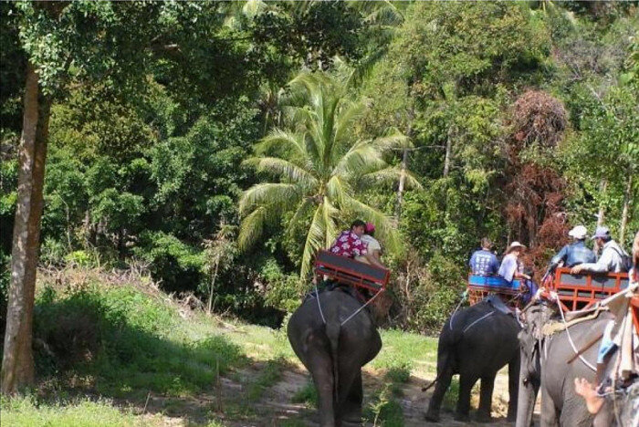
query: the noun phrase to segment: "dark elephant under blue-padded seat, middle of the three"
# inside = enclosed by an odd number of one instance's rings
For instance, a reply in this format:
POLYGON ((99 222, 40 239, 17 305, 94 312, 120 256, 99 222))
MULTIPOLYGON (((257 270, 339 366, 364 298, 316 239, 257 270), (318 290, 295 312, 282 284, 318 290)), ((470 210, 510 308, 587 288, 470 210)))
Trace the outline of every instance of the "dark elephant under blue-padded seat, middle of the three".
MULTIPOLYGON (((499 300, 500 302, 500 300, 499 300)), ((459 374, 456 419, 467 421, 470 391, 481 379, 477 421, 490 421, 490 408, 498 370, 508 363, 508 420, 517 413, 519 380, 519 322, 508 308, 495 300, 483 300, 454 313, 439 334, 435 392, 425 414, 427 421, 438 422, 439 410, 451 378, 459 374)), ((431 384, 432 385, 432 384, 431 384)))

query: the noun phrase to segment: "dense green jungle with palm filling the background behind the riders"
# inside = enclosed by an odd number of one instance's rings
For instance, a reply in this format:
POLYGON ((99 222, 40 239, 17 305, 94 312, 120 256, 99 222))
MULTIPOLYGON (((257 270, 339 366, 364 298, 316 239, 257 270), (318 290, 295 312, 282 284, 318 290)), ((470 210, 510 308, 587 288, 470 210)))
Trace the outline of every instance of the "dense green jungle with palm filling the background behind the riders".
POLYGON ((385 326, 433 333, 481 237, 528 245, 539 275, 572 225, 600 218, 626 248, 639 229, 636 2, 2 2, 0 16, 3 318, 27 59, 50 99, 49 272, 133 268, 278 327, 313 254, 361 218, 392 269, 385 326))

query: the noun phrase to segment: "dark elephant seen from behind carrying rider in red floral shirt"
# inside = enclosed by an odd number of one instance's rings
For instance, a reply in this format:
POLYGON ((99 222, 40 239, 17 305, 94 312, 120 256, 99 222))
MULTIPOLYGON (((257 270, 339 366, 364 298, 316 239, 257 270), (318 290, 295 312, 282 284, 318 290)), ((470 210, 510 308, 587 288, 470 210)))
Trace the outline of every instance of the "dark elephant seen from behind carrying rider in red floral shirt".
POLYGON ((361 306, 353 293, 337 288, 307 298, 288 321, 288 341, 318 391, 322 427, 361 424, 361 367, 382 349, 368 310, 351 317, 361 306))

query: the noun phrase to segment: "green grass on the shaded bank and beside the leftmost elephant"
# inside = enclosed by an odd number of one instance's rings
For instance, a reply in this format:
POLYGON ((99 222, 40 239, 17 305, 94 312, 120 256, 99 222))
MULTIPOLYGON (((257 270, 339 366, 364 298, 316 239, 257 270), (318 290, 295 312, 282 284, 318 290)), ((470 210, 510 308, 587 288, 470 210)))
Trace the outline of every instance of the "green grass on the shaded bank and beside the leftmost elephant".
MULTIPOLYGON (((162 396, 154 411, 184 417, 188 425, 218 426, 228 420, 257 422, 264 414, 256 403, 299 366, 288 344, 286 327, 279 330, 246 325, 233 319, 189 312, 187 318, 168 297, 142 284, 104 285, 93 281, 81 289, 39 287, 36 336, 50 352, 37 352, 38 395, 43 401, 16 398, 2 402, 3 425, 162 425, 162 416, 137 413, 147 395, 162 396), (79 339, 78 338, 82 338, 79 339), (76 347, 69 342, 79 341, 76 347), (246 368, 260 369, 246 376, 246 368), (220 405, 194 407, 198 395, 215 395, 218 376, 240 383, 241 395, 220 405), (74 401, 68 396, 95 396, 74 401), (120 409, 112 400, 127 401, 120 409)), ((411 375, 435 372, 436 339, 398 330, 382 330, 382 351, 365 368, 381 380, 367 402, 366 417, 377 425, 403 425, 397 397, 411 375)), ((248 371, 251 371, 248 369, 248 371)), ((311 381, 291 401, 317 407, 311 381)), ((296 420, 281 421, 299 425, 296 420)))

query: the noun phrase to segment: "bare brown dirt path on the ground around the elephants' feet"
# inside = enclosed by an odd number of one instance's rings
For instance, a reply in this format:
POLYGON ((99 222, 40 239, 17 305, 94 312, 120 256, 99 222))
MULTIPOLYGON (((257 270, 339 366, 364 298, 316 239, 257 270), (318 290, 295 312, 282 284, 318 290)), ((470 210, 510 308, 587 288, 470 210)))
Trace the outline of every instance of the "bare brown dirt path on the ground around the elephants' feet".
MULTIPOLYGON (((221 379, 215 390, 190 398, 163 398, 150 396, 146 413, 162 414, 164 425, 206 425, 212 420, 231 427, 309 426, 319 425, 317 410, 305 403, 292 402, 293 396, 303 389, 309 374, 301 366, 287 365, 280 379, 267 387, 257 401, 247 401, 246 394, 251 381, 257 378, 263 364, 237 370, 221 379)), ((382 375, 371 369, 364 370, 364 404, 372 400, 372 393, 382 386, 382 375)), ((403 424, 412 426, 510 426, 506 421, 508 410, 508 371, 501 370, 495 381, 493 394, 493 422, 457 422, 452 411, 441 412, 438 423, 426 422, 424 412, 428 407, 432 390, 423 392, 422 387, 430 378, 411 375, 401 386, 401 397, 396 397, 403 410, 403 424)), ((477 386, 472 405, 477 408, 477 386)), ((471 420, 474 413, 471 411, 471 420)), ((379 423, 378 423, 379 424, 379 423)), ((367 422, 364 425, 373 425, 367 422)))

